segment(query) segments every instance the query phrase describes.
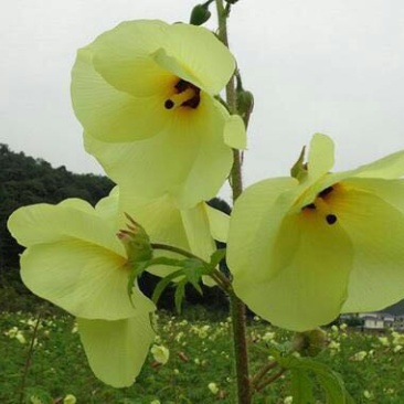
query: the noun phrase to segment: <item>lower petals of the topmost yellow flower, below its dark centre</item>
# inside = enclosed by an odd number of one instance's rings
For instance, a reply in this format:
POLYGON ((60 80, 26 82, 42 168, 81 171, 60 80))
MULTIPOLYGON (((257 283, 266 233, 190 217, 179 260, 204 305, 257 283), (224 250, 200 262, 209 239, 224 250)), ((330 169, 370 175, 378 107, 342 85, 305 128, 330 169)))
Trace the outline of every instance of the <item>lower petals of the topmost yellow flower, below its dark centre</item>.
POLYGON ((85 148, 95 156, 120 190, 140 198, 169 193, 187 209, 216 194, 228 176, 232 150, 223 142, 225 120, 213 102, 201 94, 194 114, 170 121, 153 138, 106 143, 85 134, 85 148))

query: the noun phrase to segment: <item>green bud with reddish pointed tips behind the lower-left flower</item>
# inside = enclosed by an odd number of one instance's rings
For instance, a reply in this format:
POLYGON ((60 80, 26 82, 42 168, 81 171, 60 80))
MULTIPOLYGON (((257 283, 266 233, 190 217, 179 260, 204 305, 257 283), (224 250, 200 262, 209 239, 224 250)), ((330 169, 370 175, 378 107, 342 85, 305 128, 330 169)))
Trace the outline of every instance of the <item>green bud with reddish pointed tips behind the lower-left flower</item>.
POLYGON ((125 213, 125 215, 130 224, 127 224, 128 230, 120 230, 119 233, 117 233, 117 236, 124 244, 128 262, 135 264, 141 261, 151 259, 152 247, 148 234, 145 228, 139 223, 135 222, 127 213, 125 213))

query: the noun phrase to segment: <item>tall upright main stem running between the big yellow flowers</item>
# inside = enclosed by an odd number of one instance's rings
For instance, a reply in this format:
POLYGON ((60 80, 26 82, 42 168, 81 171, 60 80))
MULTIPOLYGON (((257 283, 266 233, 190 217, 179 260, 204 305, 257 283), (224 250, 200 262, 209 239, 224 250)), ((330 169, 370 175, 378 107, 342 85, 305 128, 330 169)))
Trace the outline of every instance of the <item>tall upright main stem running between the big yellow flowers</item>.
MULTIPOLYGON (((217 20, 219 20, 219 38, 228 47, 227 39, 227 17, 230 13, 230 4, 223 7, 223 0, 216 0, 217 20)), ((226 85, 226 102, 231 114, 236 113, 236 95, 234 87, 234 76, 226 85)), ((230 176, 230 183, 233 191, 233 202, 243 192, 242 182, 242 161, 238 150, 233 149, 233 168, 230 176)), ((248 352, 246 340, 246 317, 245 305, 242 300, 231 293, 230 311, 232 318, 233 331, 233 349, 235 357, 235 373, 237 381, 237 402, 240 404, 252 403, 252 390, 249 384, 248 372, 248 352)))

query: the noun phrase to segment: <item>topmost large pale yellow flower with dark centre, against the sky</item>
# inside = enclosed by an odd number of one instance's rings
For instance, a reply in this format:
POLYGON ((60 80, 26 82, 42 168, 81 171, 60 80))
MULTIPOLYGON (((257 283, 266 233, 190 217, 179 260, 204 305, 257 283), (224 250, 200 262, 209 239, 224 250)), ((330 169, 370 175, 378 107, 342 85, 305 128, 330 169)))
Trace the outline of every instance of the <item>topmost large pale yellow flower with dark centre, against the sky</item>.
POLYGON ((173 195, 182 208, 212 198, 245 148, 241 117, 214 98, 235 68, 209 30, 128 21, 78 51, 72 99, 86 150, 121 189, 173 195))

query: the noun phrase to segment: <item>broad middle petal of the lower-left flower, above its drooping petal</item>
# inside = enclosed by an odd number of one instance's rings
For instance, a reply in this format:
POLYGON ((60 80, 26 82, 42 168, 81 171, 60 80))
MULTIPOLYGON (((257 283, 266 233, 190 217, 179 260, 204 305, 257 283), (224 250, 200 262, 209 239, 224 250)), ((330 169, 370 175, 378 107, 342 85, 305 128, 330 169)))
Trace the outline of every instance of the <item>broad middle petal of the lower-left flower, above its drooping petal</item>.
POLYGON ((57 241, 36 244, 21 256, 21 278, 35 295, 74 316, 117 320, 153 304, 137 288, 127 296, 126 258, 94 244, 57 241))

